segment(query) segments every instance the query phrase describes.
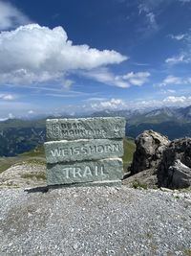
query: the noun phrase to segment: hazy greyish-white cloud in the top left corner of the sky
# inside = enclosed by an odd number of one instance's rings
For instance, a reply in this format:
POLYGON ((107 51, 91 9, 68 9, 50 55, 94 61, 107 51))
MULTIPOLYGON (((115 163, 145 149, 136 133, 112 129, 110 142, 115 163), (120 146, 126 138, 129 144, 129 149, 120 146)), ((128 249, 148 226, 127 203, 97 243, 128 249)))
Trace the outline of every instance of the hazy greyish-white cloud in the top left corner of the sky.
POLYGON ((0 30, 31 23, 30 19, 8 2, 0 1, 0 30))

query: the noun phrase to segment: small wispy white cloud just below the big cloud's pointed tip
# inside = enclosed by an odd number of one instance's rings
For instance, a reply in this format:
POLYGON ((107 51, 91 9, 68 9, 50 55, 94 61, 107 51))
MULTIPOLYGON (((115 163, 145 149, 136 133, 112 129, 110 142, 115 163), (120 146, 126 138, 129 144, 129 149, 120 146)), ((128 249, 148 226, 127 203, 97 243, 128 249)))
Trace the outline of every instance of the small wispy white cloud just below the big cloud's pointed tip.
POLYGON ((130 72, 122 76, 116 76, 107 68, 99 68, 90 72, 82 72, 81 75, 99 82, 103 82, 108 85, 128 88, 132 85, 143 85, 145 82, 148 81, 148 78, 151 74, 149 72, 130 72))

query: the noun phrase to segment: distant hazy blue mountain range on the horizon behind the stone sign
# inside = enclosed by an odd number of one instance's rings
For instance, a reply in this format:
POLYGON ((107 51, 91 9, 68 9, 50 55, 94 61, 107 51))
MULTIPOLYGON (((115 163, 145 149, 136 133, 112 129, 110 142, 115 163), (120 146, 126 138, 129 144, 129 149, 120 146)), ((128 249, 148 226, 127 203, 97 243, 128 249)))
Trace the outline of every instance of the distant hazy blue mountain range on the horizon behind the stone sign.
MULTIPOLYGON (((145 129, 158 131, 168 136, 170 140, 185 136, 191 137, 191 105, 154 110, 104 110, 91 115, 91 117, 99 116, 125 117, 127 120, 126 136, 132 138, 136 138, 145 129)), ((10 119, 0 122, 0 156, 14 156, 42 145, 45 141, 45 121, 46 118, 10 119)))

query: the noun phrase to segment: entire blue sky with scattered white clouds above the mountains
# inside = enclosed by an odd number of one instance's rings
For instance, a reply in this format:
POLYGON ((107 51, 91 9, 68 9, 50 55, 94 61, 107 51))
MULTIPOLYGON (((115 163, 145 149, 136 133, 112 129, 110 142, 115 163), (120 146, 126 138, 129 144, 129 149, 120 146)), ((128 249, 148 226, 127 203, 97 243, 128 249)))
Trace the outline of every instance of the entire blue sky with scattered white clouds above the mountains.
POLYGON ((191 0, 0 0, 0 119, 191 105, 191 0))

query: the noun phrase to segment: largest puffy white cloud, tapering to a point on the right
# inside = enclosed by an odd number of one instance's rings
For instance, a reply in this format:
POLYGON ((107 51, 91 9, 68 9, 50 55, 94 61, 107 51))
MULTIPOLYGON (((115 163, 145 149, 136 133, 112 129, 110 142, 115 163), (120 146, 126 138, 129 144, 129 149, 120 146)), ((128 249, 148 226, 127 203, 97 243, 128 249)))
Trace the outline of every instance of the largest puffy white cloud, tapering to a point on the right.
POLYGON ((66 72, 117 64, 127 57, 113 50, 73 45, 62 27, 51 30, 31 24, 0 34, 0 59, 0 83, 29 84, 61 82, 66 72))

